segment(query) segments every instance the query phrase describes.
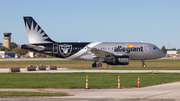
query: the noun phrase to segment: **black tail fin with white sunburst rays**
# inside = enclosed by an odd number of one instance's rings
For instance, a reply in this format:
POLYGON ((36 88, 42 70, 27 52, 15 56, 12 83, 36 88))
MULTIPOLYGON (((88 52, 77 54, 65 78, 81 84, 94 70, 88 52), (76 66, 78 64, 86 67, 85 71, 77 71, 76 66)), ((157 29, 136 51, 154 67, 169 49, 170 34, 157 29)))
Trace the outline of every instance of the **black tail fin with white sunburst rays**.
POLYGON ((24 17, 24 23, 26 26, 30 44, 54 42, 48 37, 48 35, 43 31, 43 29, 36 23, 36 21, 32 17, 24 17))

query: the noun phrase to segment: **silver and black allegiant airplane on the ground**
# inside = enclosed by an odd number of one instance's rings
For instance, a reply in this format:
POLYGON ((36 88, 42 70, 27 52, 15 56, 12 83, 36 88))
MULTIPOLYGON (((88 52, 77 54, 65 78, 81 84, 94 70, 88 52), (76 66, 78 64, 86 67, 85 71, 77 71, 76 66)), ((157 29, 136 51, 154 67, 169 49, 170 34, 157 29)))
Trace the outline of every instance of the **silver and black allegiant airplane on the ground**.
POLYGON ((146 67, 145 60, 165 56, 157 46, 144 42, 56 42, 32 17, 23 18, 30 44, 21 48, 29 51, 68 60, 94 61, 92 67, 102 67, 102 63, 129 65, 130 60, 142 60, 142 67, 146 67))

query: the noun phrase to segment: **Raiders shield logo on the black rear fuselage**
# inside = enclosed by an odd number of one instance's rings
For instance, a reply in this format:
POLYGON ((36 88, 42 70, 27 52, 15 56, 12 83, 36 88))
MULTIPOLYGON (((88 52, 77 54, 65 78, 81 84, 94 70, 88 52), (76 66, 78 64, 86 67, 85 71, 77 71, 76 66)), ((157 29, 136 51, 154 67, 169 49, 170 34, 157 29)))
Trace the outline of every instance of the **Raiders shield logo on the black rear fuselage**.
POLYGON ((59 52, 61 53, 62 56, 67 57, 71 54, 72 51, 72 45, 59 45, 59 52))

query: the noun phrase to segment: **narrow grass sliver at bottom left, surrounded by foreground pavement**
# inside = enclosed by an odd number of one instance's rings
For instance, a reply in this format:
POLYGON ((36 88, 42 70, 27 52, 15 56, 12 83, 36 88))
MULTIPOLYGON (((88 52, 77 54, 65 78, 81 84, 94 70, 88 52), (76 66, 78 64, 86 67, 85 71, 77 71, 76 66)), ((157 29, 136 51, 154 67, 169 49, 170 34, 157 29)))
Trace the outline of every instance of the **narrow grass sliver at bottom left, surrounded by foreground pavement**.
POLYGON ((17 97, 17 96, 68 96, 67 93, 41 93, 41 92, 17 92, 17 91, 0 91, 0 97, 17 97))

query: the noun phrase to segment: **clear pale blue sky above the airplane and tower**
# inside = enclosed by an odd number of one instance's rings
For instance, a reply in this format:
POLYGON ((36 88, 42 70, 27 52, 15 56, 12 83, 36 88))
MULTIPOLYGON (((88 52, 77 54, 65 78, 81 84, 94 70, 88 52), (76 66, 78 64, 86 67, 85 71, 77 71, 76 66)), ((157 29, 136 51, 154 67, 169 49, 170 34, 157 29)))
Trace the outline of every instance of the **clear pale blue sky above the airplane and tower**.
POLYGON ((180 0, 1 0, 0 42, 29 43, 23 16, 61 42, 147 42, 180 48, 180 0))

